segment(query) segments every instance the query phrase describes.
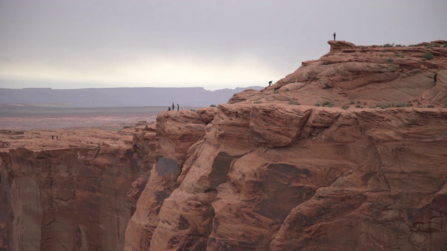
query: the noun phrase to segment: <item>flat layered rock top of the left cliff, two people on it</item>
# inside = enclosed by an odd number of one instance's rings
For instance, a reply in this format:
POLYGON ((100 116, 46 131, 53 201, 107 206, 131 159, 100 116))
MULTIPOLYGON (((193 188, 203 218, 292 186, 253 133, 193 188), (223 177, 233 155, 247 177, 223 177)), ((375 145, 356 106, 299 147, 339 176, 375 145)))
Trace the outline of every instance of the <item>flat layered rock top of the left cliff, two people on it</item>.
POLYGON ((114 148, 131 148, 132 135, 137 128, 123 130, 101 130, 82 128, 80 130, 0 130, 0 151, 10 149, 28 149, 45 151, 68 148, 95 148, 110 146, 114 148))

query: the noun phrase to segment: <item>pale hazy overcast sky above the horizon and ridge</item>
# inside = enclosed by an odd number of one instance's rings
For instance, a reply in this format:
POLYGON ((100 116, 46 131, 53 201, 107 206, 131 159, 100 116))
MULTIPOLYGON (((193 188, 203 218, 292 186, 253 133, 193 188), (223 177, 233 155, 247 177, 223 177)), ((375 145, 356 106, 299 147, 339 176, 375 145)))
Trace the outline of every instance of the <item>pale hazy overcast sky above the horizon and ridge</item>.
POLYGON ((0 88, 266 85, 328 40, 447 40, 446 0, 0 0, 0 88))

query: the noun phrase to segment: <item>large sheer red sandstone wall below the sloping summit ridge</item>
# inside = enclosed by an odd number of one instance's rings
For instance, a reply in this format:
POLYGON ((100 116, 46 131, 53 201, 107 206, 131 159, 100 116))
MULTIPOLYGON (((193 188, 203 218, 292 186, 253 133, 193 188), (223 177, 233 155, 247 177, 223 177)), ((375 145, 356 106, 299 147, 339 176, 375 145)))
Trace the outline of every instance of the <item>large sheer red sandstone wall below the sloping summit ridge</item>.
POLYGON ((154 165, 126 250, 445 250, 446 125, 441 109, 219 105, 181 174, 154 165))

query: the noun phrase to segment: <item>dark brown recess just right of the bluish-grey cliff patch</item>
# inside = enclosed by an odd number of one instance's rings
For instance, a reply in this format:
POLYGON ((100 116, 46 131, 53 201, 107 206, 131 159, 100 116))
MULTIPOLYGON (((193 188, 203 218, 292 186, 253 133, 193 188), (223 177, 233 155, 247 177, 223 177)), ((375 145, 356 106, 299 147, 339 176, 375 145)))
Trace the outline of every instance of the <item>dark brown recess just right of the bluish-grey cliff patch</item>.
POLYGON ((230 165, 234 159, 240 158, 243 155, 231 156, 228 153, 220 152, 212 162, 212 171, 208 176, 210 181, 210 189, 216 189, 221 183, 228 180, 228 172, 230 172, 230 165))

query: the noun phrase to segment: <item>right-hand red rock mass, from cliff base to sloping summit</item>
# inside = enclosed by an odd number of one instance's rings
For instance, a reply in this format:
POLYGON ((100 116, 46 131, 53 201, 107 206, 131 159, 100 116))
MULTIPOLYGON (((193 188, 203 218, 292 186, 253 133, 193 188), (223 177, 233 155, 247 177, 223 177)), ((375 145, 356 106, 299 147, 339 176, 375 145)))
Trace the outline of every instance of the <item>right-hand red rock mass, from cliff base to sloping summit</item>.
POLYGON ((447 49, 330 45, 210 123, 191 118, 202 136, 169 137, 188 122, 159 116, 156 155, 178 173, 157 160, 125 250, 446 250, 447 49), (374 109, 340 108, 353 100, 374 109))

